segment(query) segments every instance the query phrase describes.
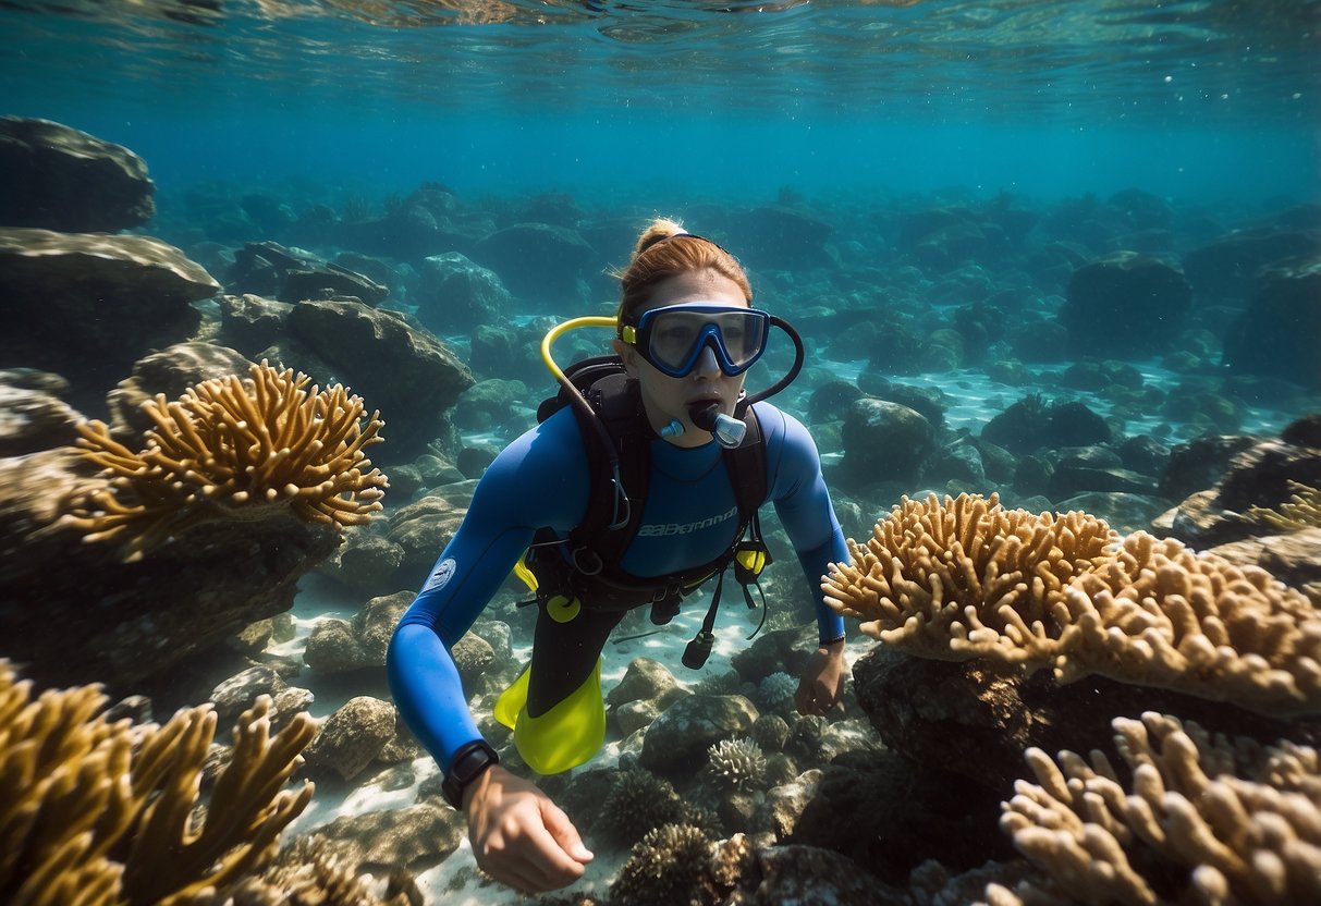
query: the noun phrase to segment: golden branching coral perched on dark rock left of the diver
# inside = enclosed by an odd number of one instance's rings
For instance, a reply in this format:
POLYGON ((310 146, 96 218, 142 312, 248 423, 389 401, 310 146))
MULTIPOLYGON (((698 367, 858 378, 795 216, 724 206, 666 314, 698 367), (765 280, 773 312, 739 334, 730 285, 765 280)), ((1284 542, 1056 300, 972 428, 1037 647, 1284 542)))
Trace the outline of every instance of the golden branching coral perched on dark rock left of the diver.
POLYGON ((209 519, 254 520, 275 510, 336 527, 369 522, 388 487, 363 453, 382 440, 379 412, 362 428, 362 399, 342 384, 309 391, 310 378, 266 361, 250 375, 144 403, 156 429, 136 453, 104 423, 79 425, 83 456, 104 470, 107 485, 77 501, 66 519, 90 541, 127 536, 125 560, 209 519))

